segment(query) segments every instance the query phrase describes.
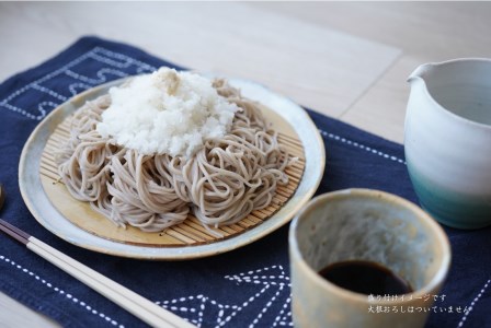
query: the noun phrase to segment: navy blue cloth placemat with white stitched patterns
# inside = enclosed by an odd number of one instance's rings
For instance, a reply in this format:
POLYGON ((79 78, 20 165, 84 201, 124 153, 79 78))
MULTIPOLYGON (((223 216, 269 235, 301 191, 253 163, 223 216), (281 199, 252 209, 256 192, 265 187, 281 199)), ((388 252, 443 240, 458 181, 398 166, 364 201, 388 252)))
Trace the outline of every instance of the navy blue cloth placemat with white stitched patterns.
MULTIPOLYGON (((220 256, 152 262, 78 248, 50 234, 27 211, 19 191, 18 166, 22 147, 39 120, 83 90, 160 66, 175 67, 124 44, 84 37, 0 84, 0 181, 7 191, 1 216, 197 326, 292 326, 287 226, 220 256)), ((308 113, 327 151, 318 194, 365 187, 416 202, 402 145, 308 113)), ((427 327, 491 327, 491 229, 445 230, 453 263, 427 327)), ((0 235, 0 291, 65 327, 145 326, 4 235, 0 235)))

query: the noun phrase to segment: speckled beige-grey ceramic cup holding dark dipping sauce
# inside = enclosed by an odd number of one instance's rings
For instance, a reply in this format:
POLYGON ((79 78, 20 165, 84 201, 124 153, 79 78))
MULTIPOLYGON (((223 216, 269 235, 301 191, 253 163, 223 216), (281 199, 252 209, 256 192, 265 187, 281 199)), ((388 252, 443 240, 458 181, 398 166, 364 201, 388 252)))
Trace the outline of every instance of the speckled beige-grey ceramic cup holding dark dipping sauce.
POLYGON ((418 206, 368 189, 312 199, 289 230, 295 327, 422 327, 450 263, 442 227, 418 206), (342 289, 318 272, 344 260, 375 261, 412 286, 397 300, 342 289), (421 312, 418 311, 421 308, 421 312), (426 311, 425 311, 426 309, 426 311))

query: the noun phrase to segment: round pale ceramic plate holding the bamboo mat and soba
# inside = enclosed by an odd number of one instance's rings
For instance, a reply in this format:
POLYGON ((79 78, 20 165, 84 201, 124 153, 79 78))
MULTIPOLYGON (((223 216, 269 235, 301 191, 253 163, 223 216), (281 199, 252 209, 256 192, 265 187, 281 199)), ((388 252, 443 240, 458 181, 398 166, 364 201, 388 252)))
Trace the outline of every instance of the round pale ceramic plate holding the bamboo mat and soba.
MULTIPOLYGON (((50 186, 50 183, 47 184, 45 177, 39 174, 39 167, 43 169, 42 156, 45 149, 49 147, 52 134, 67 117, 87 101, 106 94, 111 86, 118 85, 123 81, 113 81, 88 90, 60 105, 37 126, 24 145, 19 165, 22 197, 34 218, 57 236, 80 247, 123 257, 162 260, 206 257, 236 249, 272 233, 289 222, 317 190, 323 174, 326 154, 322 139, 307 113, 292 101, 264 86, 244 80, 231 79, 229 80, 230 84, 240 89, 243 96, 260 102, 271 112, 267 116, 274 127, 282 126, 292 130, 290 132, 295 134, 295 139, 300 142, 302 149, 304 173, 296 184, 296 190, 270 218, 251 229, 243 230, 240 234, 232 234, 228 238, 193 245, 175 244, 172 247, 156 247, 152 243, 123 243, 116 237, 94 233, 91 227, 83 226, 83 222, 78 224, 71 218, 72 212, 64 211, 62 208, 62 203, 69 202, 70 199, 56 203, 52 194, 54 189, 47 187, 50 186)), ((62 188, 65 187, 62 186, 62 188)), ((89 212, 88 215, 92 214, 89 212)), ((93 221, 95 225, 107 223, 101 218, 94 219, 96 219, 93 221)), ((96 229, 106 230, 101 226, 96 229)), ((117 230, 116 226, 111 225, 109 229, 117 230)), ((127 232, 125 233, 130 236, 127 232)))

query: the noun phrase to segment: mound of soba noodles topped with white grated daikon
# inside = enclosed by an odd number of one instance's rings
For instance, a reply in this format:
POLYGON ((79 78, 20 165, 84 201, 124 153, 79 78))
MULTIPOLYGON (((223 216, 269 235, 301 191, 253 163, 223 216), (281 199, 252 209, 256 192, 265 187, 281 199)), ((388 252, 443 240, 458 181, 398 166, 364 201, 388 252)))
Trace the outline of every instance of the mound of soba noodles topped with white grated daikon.
POLYGON ((71 136, 56 156, 70 194, 116 225, 146 232, 178 224, 190 212, 217 227, 267 207, 277 185, 287 184, 284 169, 293 159, 258 104, 224 80, 167 68, 146 79, 111 90, 75 114, 71 136), (135 99, 117 92, 144 90, 145 83, 155 92, 147 104, 125 109, 135 99), (153 107, 146 108, 149 103, 153 107))

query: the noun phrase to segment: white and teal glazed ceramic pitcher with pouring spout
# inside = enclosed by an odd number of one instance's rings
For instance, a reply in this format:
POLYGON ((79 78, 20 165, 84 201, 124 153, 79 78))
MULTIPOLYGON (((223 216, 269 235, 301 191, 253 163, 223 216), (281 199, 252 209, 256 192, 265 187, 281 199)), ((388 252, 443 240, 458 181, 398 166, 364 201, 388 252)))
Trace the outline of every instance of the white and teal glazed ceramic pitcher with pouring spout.
POLYGON ((425 63, 408 80, 408 171, 421 206, 458 229, 491 224, 491 59, 425 63))

